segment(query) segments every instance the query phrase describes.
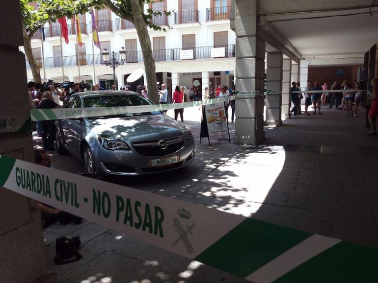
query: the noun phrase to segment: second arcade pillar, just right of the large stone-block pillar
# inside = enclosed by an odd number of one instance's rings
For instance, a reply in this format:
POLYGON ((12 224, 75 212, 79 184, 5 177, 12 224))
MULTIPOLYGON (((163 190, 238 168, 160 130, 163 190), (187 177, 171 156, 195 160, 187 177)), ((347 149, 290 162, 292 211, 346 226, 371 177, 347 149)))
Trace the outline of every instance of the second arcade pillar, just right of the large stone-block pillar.
POLYGON ((267 90, 278 91, 266 95, 266 125, 282 125, 282 65, 283 54, 270 52, 267 56, 267 90))

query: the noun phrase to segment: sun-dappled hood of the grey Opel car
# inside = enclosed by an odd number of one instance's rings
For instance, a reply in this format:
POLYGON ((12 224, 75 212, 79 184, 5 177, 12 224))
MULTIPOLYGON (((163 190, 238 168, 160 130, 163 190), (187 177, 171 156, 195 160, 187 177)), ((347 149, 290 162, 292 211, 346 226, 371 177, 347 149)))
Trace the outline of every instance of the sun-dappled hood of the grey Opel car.
POLYGON ((185 131, 185 126, 165 115, 88 119, 91 130, 97 135, 111 138, 130 138, 154 133, 185 131))

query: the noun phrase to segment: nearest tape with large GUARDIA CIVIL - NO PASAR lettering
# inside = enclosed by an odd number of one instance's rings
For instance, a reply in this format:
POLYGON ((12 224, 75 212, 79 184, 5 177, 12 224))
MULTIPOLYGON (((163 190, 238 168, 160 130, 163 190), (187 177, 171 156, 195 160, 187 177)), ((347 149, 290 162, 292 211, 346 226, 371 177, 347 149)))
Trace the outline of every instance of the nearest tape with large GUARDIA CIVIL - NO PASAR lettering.
POLYGON ((255 283, 378 278, 373 248, 4 155, 0 167, 0 187, 255 283))

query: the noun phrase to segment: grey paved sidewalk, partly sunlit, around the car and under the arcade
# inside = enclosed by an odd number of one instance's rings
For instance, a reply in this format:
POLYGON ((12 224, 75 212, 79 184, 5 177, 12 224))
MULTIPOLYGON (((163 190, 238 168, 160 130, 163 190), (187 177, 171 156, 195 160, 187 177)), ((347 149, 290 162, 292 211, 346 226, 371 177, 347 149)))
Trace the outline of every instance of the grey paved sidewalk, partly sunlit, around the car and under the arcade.
MULTIPOLYGON (((378 247, 378 137, 366 136, 362 115, 323 112, 266 127, 261 146, 214 141, 209 148, 207 140, 198 144, 200 111, 186 109, 185 123, 197 144, 188 168, 109 181, 378 247)), ((233 136, 234 125, 230 129, 233 136)), ((71 155, 54 155, 52 160, 57 169, 82 171, 71 155)), ((59 282, 244 282, 88 221, 54 224, 44 230, 44 237, 48 265, 59 282), (76 235, 81 236, 83 259, 55 266, 55 238, 76 235)))

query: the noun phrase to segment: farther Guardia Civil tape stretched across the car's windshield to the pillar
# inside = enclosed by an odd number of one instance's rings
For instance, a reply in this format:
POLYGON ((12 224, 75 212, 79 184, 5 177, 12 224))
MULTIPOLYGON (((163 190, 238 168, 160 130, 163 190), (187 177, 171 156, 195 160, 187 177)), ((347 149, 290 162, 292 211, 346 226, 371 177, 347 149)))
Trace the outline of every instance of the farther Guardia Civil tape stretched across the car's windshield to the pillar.
MULTIPOLYGON (((253 95, 258 95, 258 92, 249 92, 249 93, 253 95)), ((206 99, 206 100, 183 102, 183 103, 153 104, 153 105, 141 105, 141 106, 31 109, 30 116, 31 116, 31 120, 33 121, 75 119, 75 118, 84 118, 84 117, 102 117, 102 116, 112 116, 112 115, 125 115, 125 114, 134 114, 134 113, 166 111, 166 110, 171 110, 171 109, 180 109, 180 108, 188 108, 188 107, 198 107, 198 106, 209 105, 209 104, 214 104, 214 103, 219 103, 219 102, 226 102, 233 99, 235 99, 235 96, 227 96, 227 97, 222 97, 222 98, 206 99)))

